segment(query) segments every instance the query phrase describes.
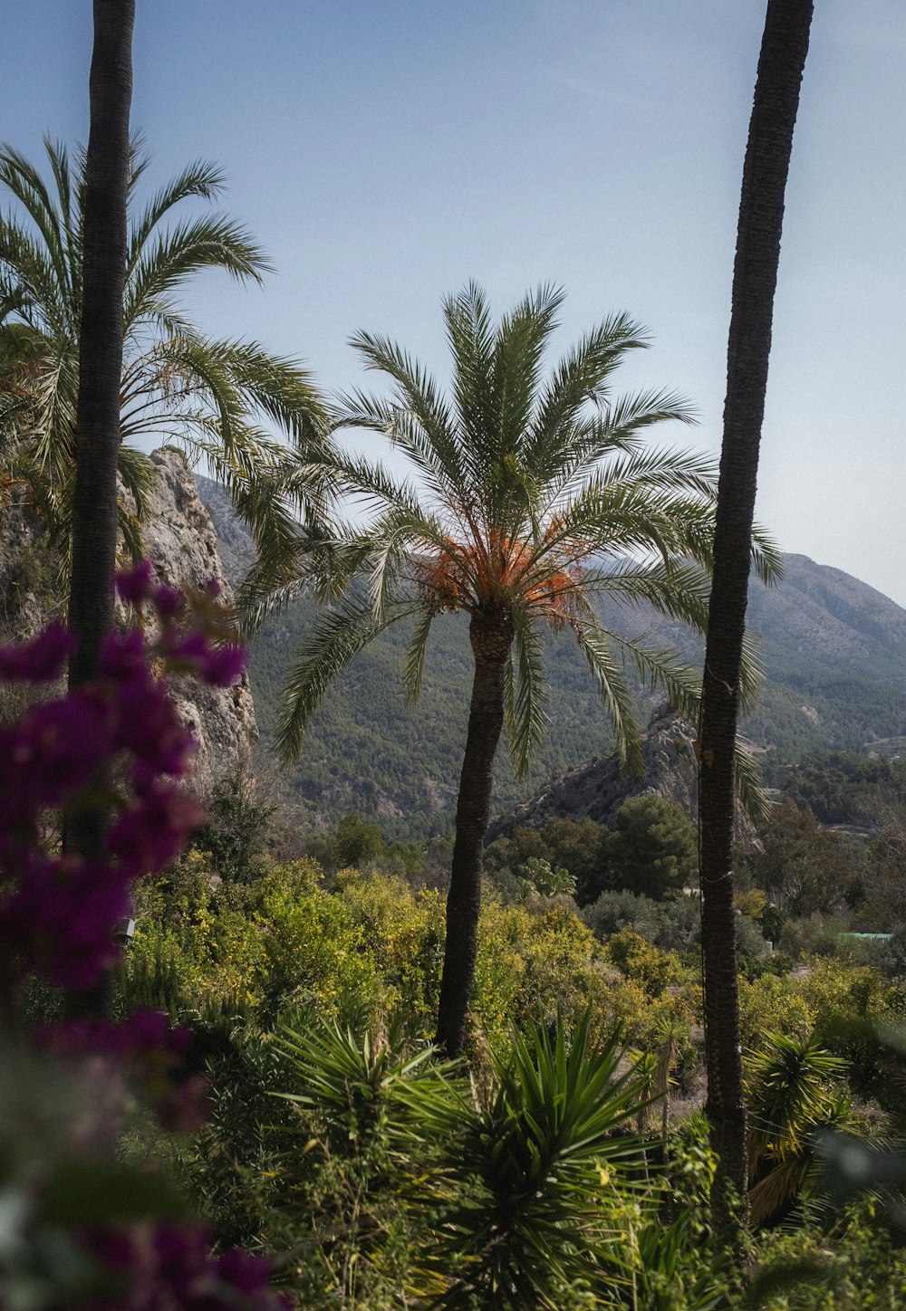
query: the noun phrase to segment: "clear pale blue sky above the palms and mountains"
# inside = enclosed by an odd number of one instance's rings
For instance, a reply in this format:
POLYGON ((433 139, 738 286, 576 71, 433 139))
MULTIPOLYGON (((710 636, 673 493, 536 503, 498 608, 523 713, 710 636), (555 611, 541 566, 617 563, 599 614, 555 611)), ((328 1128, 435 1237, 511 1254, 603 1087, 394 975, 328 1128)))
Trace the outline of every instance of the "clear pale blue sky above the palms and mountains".
MULTIPOLYGON (((88 138, 90 0, 4 7, 0 138, 88 138)), ((730 281, 764 0, 136 0, 151 184, 218 161, 274 265, 206 274, 214 333, 367 383, 359 329, 446 374, 441 300, 566 290, 555 355, 612 311, 620 371, 720 450, 730 281)), ((906 5, 816 5, 775 303, 757 515, 906 606, 906 5)), ((379 439, 375 439, 379 440, 379 439)))

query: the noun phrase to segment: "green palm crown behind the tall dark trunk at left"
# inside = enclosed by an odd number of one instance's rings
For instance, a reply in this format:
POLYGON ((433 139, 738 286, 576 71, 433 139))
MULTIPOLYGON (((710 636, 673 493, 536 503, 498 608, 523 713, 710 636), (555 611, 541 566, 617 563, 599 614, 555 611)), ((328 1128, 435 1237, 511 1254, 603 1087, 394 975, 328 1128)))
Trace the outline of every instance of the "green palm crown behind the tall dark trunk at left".
MULTIPOLYGON (((0 216, 0 460, 28 488, 66 557, 90 189, 84 152, 73 164, 63 146, 46 140, 45 148, 50 181, 18 151, 0 147, 0 184, 16 202, 0 216)), ((269 265, 248 232, 224 215, 168 225, 184 202, 216 201, 223 189, 219 169, 191 164, 139 206, 147 166, 147 155, 134 142, 126 180, 131 223, 123 265, 118 473, 135 514, 121 502, 119 531, 139 553, 153 465, 132 443, 153 438, 206 460, 256 539, 279 543, 291 519, 265 486, 285 446, 267 425, 317 461, 328 444, 324 409, 295 361, 271 355, 257 342, 207 337, 186 319, 177 294, 193 274, 222 269, 237 282, 254 283, 269 265)), ((309 473, 316 494, 315 463, 309 473)))

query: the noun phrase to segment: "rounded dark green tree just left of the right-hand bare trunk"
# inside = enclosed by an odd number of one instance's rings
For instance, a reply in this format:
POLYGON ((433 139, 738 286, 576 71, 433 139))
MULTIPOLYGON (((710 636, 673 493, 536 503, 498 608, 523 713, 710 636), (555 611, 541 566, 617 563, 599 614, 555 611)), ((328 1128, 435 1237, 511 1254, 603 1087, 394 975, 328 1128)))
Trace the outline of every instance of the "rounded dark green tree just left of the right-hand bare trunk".
POLYGON ((694 882, 699 865, 695 825, 682 806, 657 792, 629 797, 604 843, 608 888, 662 901, 694 882))

